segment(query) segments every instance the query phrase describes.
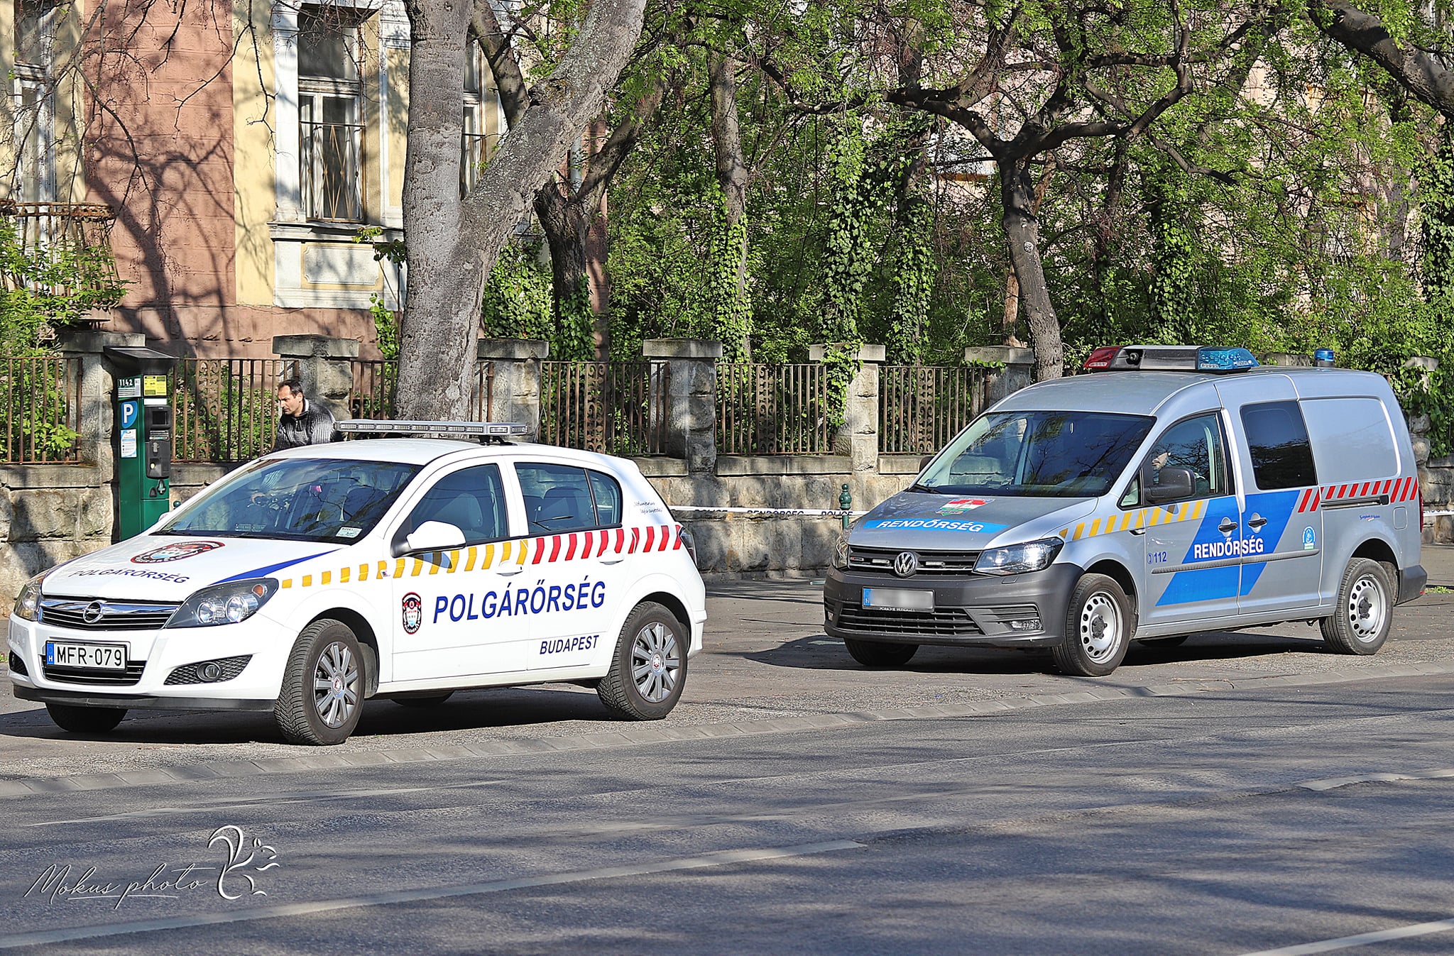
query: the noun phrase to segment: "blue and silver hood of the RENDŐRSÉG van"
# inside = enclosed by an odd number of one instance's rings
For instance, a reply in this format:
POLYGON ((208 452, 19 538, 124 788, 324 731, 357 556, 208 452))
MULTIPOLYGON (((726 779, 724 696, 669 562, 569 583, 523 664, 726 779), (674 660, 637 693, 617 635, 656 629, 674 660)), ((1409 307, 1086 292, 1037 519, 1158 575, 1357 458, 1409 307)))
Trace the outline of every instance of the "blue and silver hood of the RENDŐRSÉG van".
POLYGON ((983 551, 1059 535, 1095 510, 1096 498, 954 495, 900 491, 849 532, 864 548, 983 551))

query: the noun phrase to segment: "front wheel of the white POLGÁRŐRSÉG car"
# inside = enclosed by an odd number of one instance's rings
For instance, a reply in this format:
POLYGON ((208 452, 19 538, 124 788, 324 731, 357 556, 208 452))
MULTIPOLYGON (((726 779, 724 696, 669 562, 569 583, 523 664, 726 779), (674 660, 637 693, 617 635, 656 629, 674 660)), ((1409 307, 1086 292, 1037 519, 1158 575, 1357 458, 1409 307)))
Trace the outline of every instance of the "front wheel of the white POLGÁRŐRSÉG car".
POLYGON ((340 620, 324 617, 292 645, 273 721, 291 744, 342 744, 364 712, 364 654, 340 620))

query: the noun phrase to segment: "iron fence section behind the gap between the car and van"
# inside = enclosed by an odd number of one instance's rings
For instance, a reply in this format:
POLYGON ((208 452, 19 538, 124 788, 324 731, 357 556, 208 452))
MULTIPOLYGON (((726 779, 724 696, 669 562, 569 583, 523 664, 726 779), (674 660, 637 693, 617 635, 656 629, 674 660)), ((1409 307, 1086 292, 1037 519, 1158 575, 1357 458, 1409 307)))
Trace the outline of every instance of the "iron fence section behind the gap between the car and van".
POLYGON ((822 365, 717 363, 721 455, 826 455, 827 372, 822 365))

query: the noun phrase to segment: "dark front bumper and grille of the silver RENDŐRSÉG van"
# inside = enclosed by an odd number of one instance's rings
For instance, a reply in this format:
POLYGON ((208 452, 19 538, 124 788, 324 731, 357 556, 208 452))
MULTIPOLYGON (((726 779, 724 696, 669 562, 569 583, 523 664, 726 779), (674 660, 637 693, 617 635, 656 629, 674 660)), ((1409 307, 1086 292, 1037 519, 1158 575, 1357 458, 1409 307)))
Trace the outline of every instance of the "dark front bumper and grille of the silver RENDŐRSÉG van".
POLYGON ((1082 568, 1053 564, 1011 575, 899 578, 830 568, 823 584, 824 631, 833 638, 945 647, 1054 647, 1082 568), (933 591, 932 612, 864 607, 864 588, 933 591))

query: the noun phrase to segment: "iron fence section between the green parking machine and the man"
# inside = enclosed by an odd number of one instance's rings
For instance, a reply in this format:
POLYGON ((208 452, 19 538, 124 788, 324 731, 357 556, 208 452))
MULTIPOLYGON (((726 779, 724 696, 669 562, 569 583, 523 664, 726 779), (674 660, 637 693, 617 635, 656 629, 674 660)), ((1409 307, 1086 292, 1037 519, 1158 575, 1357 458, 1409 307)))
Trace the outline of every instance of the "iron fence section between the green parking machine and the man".
POLYGON ((284 359, 180 359, 176 365, 179 462, 244 462, 272 449, 284 359))

